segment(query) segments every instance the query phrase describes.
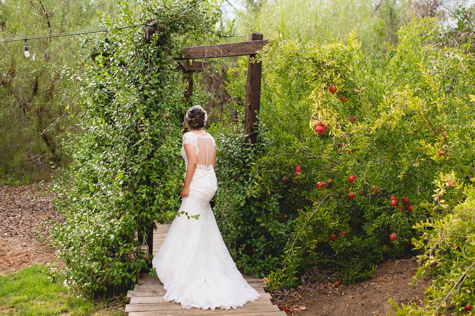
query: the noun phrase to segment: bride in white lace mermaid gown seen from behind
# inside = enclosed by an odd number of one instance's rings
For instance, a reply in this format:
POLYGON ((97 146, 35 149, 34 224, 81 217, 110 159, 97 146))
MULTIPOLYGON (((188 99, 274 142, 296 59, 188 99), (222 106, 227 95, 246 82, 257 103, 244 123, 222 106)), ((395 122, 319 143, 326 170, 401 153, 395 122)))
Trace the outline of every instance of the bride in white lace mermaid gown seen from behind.
POLYGON ((214 168, 216 144, 203 130, 208 115, 200 106, 189 108, 181 156, 185 160, 182 202, 152 267, 167 293, 166 302, 202 309, 236 308, 253 302, 257 293, 237 270, 216 224, 209 200, 218 189, 214 168))

